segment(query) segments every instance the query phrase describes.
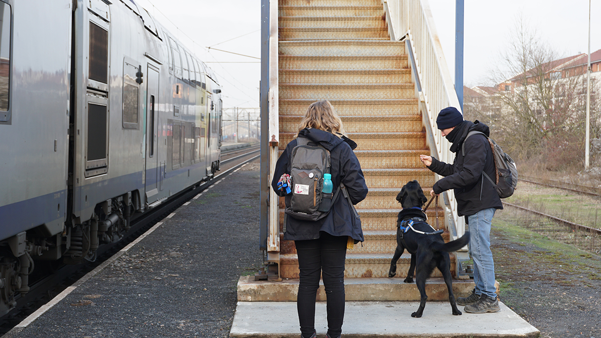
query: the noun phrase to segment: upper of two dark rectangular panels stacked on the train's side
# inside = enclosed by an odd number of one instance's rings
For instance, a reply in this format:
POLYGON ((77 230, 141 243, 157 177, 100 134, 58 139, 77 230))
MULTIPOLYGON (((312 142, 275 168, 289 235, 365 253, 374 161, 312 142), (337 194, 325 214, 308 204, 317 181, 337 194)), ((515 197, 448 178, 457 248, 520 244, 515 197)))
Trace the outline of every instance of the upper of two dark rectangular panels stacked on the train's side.
POLYGON ((90 54, 88 55, 88 77, 108 84, 109 32, 90 22, 90 54))

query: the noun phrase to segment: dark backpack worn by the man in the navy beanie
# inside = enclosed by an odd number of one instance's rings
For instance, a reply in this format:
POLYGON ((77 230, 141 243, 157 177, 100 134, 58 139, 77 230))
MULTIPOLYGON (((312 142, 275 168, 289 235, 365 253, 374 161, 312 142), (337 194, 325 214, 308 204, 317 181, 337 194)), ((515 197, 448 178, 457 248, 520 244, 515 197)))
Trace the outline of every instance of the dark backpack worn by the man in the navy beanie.
MULTIPOLYGON (((492 149, 493 159, 495 161, 495 171, 496 171, 496 182, 493 182, 490 177, 482 172, 484 176, 495 186, 497 194, 501 198, 507 198, 513 195, 513 191, 517 186, 517 167, 516 162, 511 159, 509 155, 503 152, 501 146, 496 144, 495 141, 491 140, 486 136, 483 132, 471 131, 468 133, 468 136, 465 137, 465 140, 468 139, 471 135, 482 134, 486 137, 486 140, 489 141, 490 149, 492 149)), ((465 156, 465 140, 463 140, 463 145, 461 148, 463 156, 465 156)))

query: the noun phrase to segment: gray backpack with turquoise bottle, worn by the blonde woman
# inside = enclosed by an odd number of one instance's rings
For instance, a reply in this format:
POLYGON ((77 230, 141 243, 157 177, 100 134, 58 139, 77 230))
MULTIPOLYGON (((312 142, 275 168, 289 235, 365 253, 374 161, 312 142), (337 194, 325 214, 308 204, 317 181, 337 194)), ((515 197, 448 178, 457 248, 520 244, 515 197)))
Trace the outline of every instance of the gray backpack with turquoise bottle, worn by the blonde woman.
POLYGON ((330 173, 330 152, 320 144, 309 146, 305 137, 296 141, 290 156, 292 193, 287 196, 285 213, 297 220, 317 221, 328 215, 340 186, 331 194, 322 192, 323 174, 330 173))

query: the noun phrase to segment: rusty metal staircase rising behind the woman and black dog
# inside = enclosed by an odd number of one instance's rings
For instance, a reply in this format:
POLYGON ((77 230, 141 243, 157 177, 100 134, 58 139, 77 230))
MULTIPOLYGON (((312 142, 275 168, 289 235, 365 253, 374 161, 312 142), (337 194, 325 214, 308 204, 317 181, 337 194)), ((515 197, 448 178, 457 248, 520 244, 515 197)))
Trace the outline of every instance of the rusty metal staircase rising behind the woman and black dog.
MULTIPOLYGON (((419 161, 419 155, 430 150, 409 61, 404 42, 389 40, 380 0, 279 0, 280 154, 310 103, 324 99, 330 100, 349 138, 358 144, 355 154, 369 188, 367 198, 356 206, 365 242, 347 251, 347 284, 356 283, 353 278, 387 278, 401 209, 395 197, 414 179, 429 196, 435 176, 419 161)), ((279 274, 298 278, 294 242, 282 240, 283 198, 279 206, 279 274)), ((434 203, 428 214, 435 224, 434 203)), ((438 214, 444 227, 444 211, 438 214)), ((448 241, 446 229, 443 236, 448 241)), ((406 277, 409 262, 404 253, 396 278, 406 277)), ((451 255, 453 273, 454 264, 451 255)), ((438 269, 435 273, 440 276, 438 269)), ((394 284, 404 284, 396 278, 394 284)), ((413 284, 407 286, 416 290, 413 284)), ((349 297, 353 298, 347 289, 349 297)), ((418 299, 419 294, 411 297, 418 299)))

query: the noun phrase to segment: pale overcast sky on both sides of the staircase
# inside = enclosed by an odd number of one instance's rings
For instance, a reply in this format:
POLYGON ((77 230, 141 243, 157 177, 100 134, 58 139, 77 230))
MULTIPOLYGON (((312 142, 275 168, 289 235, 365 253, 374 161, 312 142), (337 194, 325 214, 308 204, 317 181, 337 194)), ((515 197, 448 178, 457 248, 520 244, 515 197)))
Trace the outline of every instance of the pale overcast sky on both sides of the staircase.
MULTIPOLYGON (((259 106, 261 0, 135 0, 217 73, 224 107, 259 106), (246 35, 245 35, 246 34, 246 35), (240 35, 244 35, 240 38, 240 35), (234 39, 231 41, 227 41, 234 39), (207 49, 212 46, 228 54, 207 49)), ((591 52, 601 49, 601 1, 592 0, 591 52), (596 16, 594 15, 596 14, 596 16)), ((588 0, 465 0, 464 83, 480 85, 510 46, 520 14, 561 56, 586 53, 588 0)), ((455 1, 429 0, 454 76, 455 1)))

